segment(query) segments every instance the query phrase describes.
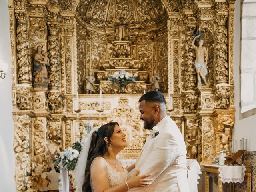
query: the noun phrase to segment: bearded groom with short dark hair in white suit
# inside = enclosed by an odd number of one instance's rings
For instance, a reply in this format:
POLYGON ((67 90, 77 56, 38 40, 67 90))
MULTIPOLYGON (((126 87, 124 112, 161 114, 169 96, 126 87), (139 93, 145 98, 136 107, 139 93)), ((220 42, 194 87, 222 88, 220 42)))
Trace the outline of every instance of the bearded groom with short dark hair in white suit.
POLYGON ((139 100, 144 128, 153 131, 146 140, 135 170, 151 174, 152 184, 130 191, 189 192, 186 146, 176 123, 166 114, 166 101, 160 91, 150 91, 139 100), (154 127, 154 128, 153 128, 154 127))

